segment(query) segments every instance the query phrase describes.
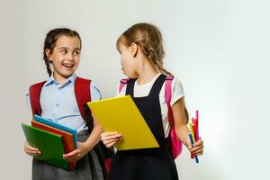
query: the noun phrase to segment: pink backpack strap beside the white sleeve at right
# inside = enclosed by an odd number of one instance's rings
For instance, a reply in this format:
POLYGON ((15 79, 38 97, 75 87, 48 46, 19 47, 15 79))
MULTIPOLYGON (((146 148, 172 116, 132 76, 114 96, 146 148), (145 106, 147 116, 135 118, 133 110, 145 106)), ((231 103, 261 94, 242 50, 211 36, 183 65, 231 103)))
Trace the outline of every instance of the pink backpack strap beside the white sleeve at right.
POLYGON ((174 124, 174 118, 172 113, 172 107, 171 107, 171 99, 172 99, 172 81, 174 79, 174 76, 166 76, 165 81, 165 101, 167 106, 167 113, 168 113, 168 120, 170 124, 174 124))

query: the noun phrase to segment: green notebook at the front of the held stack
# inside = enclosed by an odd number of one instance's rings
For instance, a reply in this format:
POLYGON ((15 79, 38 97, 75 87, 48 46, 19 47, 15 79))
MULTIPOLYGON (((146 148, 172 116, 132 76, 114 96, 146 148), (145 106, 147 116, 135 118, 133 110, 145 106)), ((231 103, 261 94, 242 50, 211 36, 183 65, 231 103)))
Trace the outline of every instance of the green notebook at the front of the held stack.
POLYGON ((65 148, 63 146, 61 135, 40 130, 23 123, 22 127, 28 143, 32 147, 39 148, 41 151, 41 155, 35 158, 69 170, 69 165, 63 158, 65 148))

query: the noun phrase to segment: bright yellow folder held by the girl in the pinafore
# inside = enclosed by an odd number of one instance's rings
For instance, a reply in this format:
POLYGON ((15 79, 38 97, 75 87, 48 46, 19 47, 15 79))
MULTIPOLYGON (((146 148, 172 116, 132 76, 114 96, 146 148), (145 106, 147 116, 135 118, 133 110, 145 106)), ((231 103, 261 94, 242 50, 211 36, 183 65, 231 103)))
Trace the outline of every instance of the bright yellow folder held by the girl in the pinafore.
POLYGON ((159 147, 130 95, 89 102, 87 105, 103 130, 121 133, 123 139, 115 144, 118 150, 159 147))

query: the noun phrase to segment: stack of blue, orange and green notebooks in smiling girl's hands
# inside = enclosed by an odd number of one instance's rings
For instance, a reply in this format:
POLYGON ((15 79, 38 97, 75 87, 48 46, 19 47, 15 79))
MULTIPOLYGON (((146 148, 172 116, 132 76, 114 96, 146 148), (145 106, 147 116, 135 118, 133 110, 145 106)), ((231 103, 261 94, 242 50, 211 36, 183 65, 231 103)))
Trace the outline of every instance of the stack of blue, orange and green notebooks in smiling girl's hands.
POLYGON ((77 148, 76 130, 38 115, 34 115, 31 126, 22 123, 22 127, 28 143, 41 151, 35 158, 67 170, 76 167, 76 162, 67 162, 63 158, 63 154, 77 148))

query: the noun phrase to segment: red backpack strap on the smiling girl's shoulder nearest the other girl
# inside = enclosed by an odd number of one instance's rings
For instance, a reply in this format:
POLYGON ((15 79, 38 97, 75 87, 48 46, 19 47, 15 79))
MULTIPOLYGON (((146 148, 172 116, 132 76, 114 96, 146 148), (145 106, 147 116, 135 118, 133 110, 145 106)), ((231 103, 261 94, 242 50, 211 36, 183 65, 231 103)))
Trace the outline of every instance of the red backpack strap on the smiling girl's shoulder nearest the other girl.
POLYGON ((76 103, 79 108, 79 111, 81 112, 81 116, 84 118, 85 121, 87 118, 86 116, 89 114, 91 115, 91 113, 87 112, 88 108, 86 108, 85 106, 87 102, 91 101, 90 84, 91 84, 90 79, 85 79, 77 76, 74 85, 76 103))

